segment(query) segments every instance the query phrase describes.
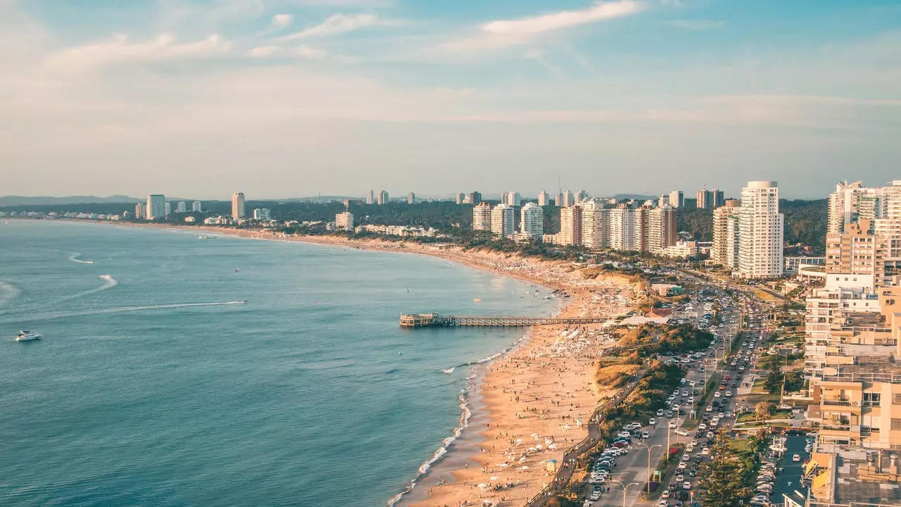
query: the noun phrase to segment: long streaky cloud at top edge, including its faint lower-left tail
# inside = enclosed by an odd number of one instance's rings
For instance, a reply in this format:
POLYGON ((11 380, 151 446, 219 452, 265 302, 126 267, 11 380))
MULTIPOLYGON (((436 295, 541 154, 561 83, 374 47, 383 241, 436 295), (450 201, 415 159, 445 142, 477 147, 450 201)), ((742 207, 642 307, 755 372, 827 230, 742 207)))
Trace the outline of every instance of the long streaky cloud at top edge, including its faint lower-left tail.
POLYGON ((475 35, 442 43, 439 50, 468 52, 505 48, 529 41, 546 32, 555 32, 588 23, 598 23, 638 14, 647 8, 639 0, 595 2, 586 9, 560 11, 514 20, 497 20, 479 26, 475 35))

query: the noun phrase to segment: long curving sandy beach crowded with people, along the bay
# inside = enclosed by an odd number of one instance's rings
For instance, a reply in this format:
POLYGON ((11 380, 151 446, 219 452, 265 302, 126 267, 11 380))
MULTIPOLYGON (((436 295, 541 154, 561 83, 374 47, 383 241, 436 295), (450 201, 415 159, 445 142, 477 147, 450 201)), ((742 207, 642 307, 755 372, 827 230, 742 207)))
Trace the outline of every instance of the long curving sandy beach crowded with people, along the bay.
MULTIPOLYGON (((67 221, 201 231, 209 235, 298 241, 370 251, 419 253, 484 272, 510 276, 546 290, 564 292, 569 297, 560 298, 564 304, 555 311, 561 316, 602 314, 613 317, 633 306, 632 283, 621 276, 597 272, 593 278, 585 277, 582 269, 569 262, 512 253, 463 251, 456 245, 438 247, 378 239, 288 236, 232 227, 67 221), (623 293, 629 297, 623 300, 623 293)), ((603 335, 596 329, 531 327, 505 350, 476 364, 466 364, 472 366, 466 375, 473 372, 475 378, 465 381, 466 387, 460 396, 459 424, 451 436, 442 440, 440 447, 423 462, 414 478, 405 482, 403 491, 386 504, 441 507, 469 502, 471 505, 484 503, 513 507, 523 505, 540 493, 551 480, 552 474, 544 470, 550 463, 547 460, 559 461, 565 448, 585 437, 587 431, 582 420, 587 420, 603 396, 610 393, 610 390, 599 389, 593 382, 593 358, 598 350, 610 345, 602 343, 603 335), (556 380, 552 377, 554 372, 558 373, 556 380), (573 385, 577 387, 573 389, 573 385), (528 401, 525 400, 526 393, 528 401), (569 410, 563 401, 569 401, 569 410), (529 403, 532 403, 531 407, 529 403), (539 405, 540 410, 535 405, 539 405), (560 424, 555 424, 558 420, 560 424), (432 484, 438 482, 432 481, 436 475, 442 478, 450 475, 453 480, 432 484)))

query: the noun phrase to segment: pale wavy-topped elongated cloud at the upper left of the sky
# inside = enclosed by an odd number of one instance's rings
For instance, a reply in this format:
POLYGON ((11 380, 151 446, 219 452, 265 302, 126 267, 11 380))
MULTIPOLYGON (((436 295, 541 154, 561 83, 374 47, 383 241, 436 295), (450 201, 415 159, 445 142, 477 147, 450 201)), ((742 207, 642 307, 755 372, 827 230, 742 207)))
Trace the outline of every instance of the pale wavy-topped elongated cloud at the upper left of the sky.
POLYGON ((172 33, 162 33, 156 39, 131 42, 125 34, 108 41, 85 44, 51 54, 46 62, 54 69, 78 70, 112 63, 135 63, 211 56, 229 51, 232 43, 214 33, 195 42, 177 43, 172 33))

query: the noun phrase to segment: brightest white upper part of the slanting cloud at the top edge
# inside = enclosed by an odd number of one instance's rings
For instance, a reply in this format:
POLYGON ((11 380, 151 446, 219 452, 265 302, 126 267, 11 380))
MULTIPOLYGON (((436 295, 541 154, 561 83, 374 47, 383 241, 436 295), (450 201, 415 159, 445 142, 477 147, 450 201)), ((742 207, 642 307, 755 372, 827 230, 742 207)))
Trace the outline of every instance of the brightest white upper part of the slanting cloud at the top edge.
POLYGON ((635 0, 596 2, 595 5, 579 11, 560 11, 516 20, 493 21, 483 24, 482 31, 508 35, 532 35, 637 14, 644 8, 644 4, 635 0))

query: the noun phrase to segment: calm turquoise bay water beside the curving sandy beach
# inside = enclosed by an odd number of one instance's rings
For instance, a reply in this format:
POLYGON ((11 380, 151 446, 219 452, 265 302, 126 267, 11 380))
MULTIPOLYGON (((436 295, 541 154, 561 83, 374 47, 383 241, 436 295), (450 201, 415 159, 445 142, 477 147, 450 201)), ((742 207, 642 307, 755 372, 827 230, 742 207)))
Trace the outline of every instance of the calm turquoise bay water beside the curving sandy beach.
POLYGON ((534 290, 412 254, 0 225, 0 505, 384 505, 459 423, 468 368, 442 370, 522 336, 399 314, 549 313, 534 290))

